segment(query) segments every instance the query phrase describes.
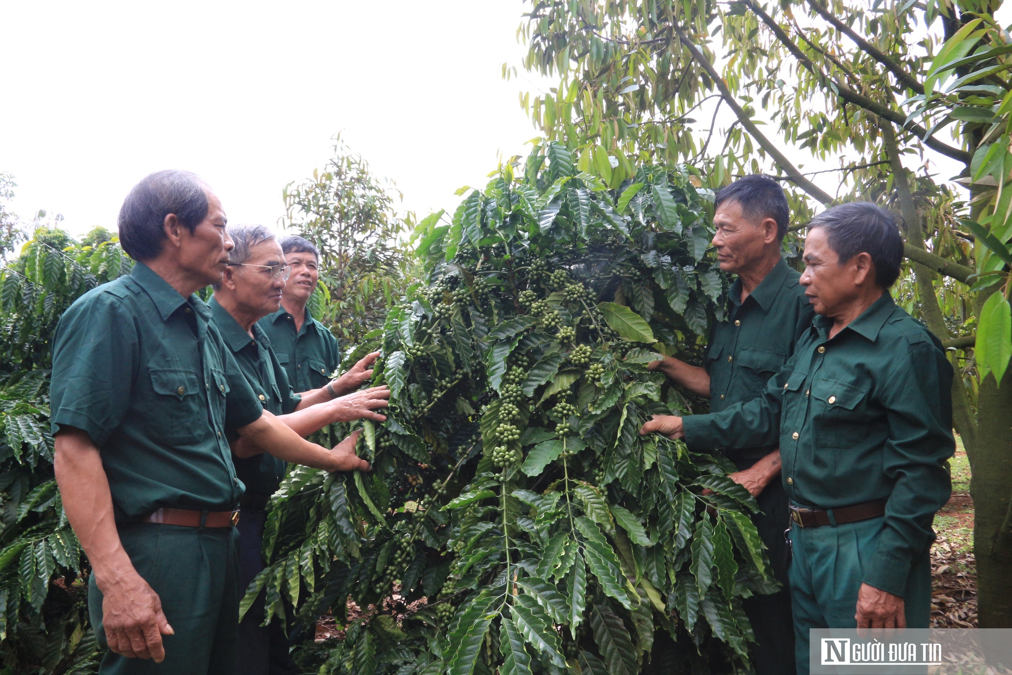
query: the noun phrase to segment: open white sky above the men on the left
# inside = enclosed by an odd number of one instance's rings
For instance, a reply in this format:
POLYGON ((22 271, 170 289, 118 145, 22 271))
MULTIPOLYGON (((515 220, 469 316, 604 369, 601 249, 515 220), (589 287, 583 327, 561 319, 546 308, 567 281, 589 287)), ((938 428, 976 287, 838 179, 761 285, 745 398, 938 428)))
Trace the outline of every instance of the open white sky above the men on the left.
MULTIPOLYGON (((529 8, 529 5, 527 5, 529 8)), ((536 136, 520 109, 520 0, 0 0, 0 171, 13 209, 115 228, 130 188, 198 173, 232 223, 274 226, 281 189, 343 132, 401 208, 483 186, 536 136)))

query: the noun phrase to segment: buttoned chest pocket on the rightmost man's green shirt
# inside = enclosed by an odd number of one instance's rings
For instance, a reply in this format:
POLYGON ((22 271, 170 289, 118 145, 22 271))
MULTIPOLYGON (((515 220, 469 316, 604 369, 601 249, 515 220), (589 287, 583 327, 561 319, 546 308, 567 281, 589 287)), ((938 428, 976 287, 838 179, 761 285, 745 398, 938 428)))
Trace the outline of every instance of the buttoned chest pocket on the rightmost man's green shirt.
POLYGON ((839 379, 821 377, 812 383, 812 444, 850 448, 871 430, 867 390, 839 379))

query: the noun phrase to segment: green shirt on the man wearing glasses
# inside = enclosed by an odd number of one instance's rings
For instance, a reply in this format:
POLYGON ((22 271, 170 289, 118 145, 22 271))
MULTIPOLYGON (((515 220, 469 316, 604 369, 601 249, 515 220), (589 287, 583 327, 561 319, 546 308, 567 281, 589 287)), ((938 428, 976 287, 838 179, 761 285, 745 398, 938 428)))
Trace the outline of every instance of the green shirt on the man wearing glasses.
MULTIPOLYGON (((260 404, 273 415, 292 412, 301 398, 292 393, 288 376, 271 349, 270 340, 263 329, 253 324, 251 337, 215 298, 207 305, 212 321, 222 334, 225 344, 232 350, 236 363, 260 404)), ((229 440, 233 439, 230 436, 229 440)), ((284 460, 267 452, 245 458, 233 455, 232 461, 236 465, 239 480, 246 485, 246 492, 250 494, 272 495, 284 479, 284 460)))

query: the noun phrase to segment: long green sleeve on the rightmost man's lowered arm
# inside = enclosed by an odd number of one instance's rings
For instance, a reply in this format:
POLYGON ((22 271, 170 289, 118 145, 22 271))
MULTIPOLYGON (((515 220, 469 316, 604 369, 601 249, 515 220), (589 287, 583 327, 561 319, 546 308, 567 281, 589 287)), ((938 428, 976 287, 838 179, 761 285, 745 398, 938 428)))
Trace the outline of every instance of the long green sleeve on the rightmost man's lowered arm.
POLYGON ((882 471, 894 487, 864 583, 894 595, 903 595, 914 559, 934 539, 934 514, 951 494, 944 466, 955 451, 951 386, 952 366, 925 341, 894 361, 878 392, 890 428, 882 471))

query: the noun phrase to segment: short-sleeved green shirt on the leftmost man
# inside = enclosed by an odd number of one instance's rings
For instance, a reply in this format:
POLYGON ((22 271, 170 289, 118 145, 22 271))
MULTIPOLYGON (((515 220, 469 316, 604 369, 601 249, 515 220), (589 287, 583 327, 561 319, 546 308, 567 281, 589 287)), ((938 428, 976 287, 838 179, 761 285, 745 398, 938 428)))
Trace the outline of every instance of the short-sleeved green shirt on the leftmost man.
POLYGON ((263 409, 196 296, 137 263, 67 310, 52 376, 53 432, 91 436, 117 522, 163 506, 237 504, 243 485, 227 435, 263 409))

